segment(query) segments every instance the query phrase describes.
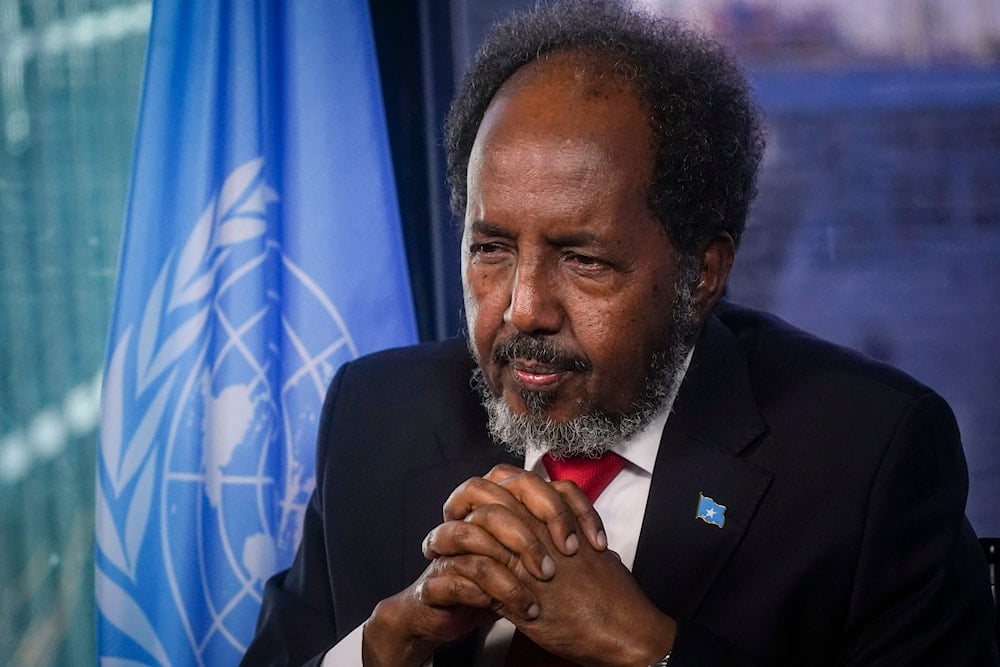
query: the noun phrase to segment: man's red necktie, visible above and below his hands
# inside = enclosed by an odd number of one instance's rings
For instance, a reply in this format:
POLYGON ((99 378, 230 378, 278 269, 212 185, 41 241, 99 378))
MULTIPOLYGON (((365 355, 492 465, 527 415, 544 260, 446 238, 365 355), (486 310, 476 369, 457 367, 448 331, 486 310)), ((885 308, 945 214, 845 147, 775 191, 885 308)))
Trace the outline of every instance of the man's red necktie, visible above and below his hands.
MULTIPOLYGON (((546 454, 542 457, 542 464, 552 481, 568 479, 576 482, 593 503, 625 467, 625 459, 614 452, 606 452, 598 459, 554 459, 546 454)), ((520 630, 514 632, 507 649, 507 667, 569 667, 575 664, 549 653, 520 630)))

